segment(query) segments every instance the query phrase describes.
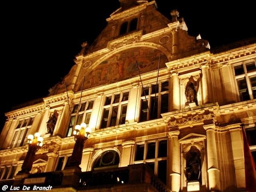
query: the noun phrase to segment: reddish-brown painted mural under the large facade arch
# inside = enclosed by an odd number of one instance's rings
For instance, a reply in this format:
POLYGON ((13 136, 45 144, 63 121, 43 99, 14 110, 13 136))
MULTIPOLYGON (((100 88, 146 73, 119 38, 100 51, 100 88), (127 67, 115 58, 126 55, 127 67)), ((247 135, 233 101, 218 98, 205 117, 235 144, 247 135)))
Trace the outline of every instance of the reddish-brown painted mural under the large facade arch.
POLYGON ((165 55, 157 49, 139 47, 115 54, 99 64, 85 77, 83 89, 111 84, 166 67, 165 55), (161 55, 161 56, 160 56, 161 55), (138 65, 138 67, 137 67, 138 65))

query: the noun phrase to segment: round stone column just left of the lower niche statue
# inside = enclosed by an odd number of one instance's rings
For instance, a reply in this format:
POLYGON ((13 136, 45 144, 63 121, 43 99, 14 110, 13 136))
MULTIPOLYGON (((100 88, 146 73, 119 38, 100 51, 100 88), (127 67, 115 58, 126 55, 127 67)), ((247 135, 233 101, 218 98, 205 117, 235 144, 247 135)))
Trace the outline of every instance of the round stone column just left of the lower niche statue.
POLYGON ((180 131, 169 132, 169 188, 180 191, 180 131))

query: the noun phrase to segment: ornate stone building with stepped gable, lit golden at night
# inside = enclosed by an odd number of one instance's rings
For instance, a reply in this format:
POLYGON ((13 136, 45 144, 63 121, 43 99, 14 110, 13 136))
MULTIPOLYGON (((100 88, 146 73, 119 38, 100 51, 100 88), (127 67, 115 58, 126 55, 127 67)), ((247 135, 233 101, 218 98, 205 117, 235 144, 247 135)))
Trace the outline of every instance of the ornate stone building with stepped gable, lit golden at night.
POLYGON ((168 19, 154 1, 119 1, 48 96, 6 113, 1 186, 246 191, 242 131, 255 161, 256 39, 210 49, 188 35, 177 10, 168 19), (73 130, 82 122, 91 131, 79 140, 73 130), (43 146, 23 173, 35 132, 43 146))

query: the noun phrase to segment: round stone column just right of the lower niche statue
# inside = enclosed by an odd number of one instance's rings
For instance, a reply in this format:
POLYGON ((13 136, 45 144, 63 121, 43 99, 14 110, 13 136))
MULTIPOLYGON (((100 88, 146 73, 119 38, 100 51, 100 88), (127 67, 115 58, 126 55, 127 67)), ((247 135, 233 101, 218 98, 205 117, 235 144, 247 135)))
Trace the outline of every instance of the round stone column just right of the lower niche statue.
POLYGON ((209 189, 211 192, 220 191, 220 170, 218 168, 217 146, 215 138, 215 125, 204 125, 207 136, 207 163, 209 176, 209 189))

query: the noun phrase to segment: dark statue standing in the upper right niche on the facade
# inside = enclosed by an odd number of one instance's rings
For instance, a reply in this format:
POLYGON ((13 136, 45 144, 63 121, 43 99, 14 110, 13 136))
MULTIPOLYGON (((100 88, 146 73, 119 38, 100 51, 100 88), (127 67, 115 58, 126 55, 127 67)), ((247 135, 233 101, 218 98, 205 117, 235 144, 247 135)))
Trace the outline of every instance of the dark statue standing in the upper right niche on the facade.
POLYGON ((187 103, 195 102, 195 105, 198 105, 197 93, 199 88, 199 79, 195 81, 193 76, 189 77, 189 81, 186 84, 185 96, 187 103))

